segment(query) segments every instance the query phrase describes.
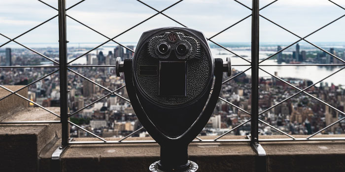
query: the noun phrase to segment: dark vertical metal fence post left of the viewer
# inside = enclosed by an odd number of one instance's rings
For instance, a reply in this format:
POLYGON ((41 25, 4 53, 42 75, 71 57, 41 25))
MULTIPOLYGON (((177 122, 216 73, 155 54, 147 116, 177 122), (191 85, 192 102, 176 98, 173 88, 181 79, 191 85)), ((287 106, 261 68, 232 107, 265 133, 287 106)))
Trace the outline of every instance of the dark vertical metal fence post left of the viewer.
POLYGON ((62 147, 69 144, 68 97, 67 97, 67 40, 66 40, 66 0, 58 0, 59 5, 59 63, 60 63, 60 116, 62 147))

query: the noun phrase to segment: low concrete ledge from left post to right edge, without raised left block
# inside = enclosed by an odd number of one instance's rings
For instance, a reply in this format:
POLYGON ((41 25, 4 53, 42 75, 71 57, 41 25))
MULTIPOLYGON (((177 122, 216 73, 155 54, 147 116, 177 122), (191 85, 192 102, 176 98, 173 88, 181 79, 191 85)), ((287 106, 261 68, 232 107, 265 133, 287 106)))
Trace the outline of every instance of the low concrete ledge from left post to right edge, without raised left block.
MULTIPOLYGON (((322 135, 322 137, 345 137, 345 135, 322 135)), ((285 137, 260 136, 260 138, 285 137)), ((150 139, 129 138, 129 140, 150 139)), ((214 139, 214 137, 202 137, 202 139, 214 139)), ((223 139, 244 139, 244 137, 226 136, 223 139)), ((91 140, 97 139, 74 139, 74 141, 91 140)), ((107 140, 116 139, 107 138, 107 140)), ((345 141, 261 144, 267 153, 269 172, 345 171, 345 141)), ((61 157, 61 165, 63 172, 147 172, 149 165, 159 160, 159 152, 157 143, 70 145, 61 157)), ((188 154, 190 160, 199 164, 198 172, 255 171, 256 155, 248 143, 191 143, 188 154)))

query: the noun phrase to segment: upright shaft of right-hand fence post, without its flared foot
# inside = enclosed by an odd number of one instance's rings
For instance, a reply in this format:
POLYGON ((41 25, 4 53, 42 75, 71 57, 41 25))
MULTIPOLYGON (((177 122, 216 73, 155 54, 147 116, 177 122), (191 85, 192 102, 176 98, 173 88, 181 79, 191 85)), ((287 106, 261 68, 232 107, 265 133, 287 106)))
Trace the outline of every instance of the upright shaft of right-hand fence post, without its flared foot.
POLYGON ((258 142, 259 124, 259 0, 252 0, 251 16, 251 143, 258 142))

